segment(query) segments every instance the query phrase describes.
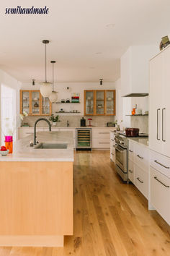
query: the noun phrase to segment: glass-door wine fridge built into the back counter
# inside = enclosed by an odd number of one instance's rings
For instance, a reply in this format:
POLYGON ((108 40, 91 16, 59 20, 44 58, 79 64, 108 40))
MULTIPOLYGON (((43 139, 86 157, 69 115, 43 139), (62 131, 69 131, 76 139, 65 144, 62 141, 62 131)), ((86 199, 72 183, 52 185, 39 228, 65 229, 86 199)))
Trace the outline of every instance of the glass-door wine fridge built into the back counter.
POLYGON ((76 150, 91 150, 91 128, 76 128, 76 150))

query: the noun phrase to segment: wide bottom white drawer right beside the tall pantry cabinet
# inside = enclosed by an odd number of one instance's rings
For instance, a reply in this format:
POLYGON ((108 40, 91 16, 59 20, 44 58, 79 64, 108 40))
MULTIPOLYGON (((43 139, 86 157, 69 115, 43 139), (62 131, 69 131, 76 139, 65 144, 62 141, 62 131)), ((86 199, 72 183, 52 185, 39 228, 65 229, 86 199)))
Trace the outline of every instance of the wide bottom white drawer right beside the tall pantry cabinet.
POLYGON ((135 186, 148 199, 148 173, 135 164, 135 186))

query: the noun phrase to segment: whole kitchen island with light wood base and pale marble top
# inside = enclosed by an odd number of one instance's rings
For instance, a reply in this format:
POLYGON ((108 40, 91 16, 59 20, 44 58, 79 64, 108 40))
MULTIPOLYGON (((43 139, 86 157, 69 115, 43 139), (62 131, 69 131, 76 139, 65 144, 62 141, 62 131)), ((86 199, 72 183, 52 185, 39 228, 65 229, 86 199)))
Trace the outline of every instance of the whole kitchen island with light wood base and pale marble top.
POLYGON ((73 234, 73 133, 37 132, 64 149, 35 149, 31 140, 0 157, 0 246, 61 247, 73 234))

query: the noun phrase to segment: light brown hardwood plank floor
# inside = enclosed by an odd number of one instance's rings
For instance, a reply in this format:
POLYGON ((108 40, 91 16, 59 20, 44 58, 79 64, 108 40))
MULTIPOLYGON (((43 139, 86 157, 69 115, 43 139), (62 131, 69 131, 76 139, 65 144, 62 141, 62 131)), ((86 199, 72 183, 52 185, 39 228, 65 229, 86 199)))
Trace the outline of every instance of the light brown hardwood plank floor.
POLYGON ((169 226, 113 168, 106 151, 77 152, 74 235, 63 248, 1 247, 0 256, 170 255, 169 226))

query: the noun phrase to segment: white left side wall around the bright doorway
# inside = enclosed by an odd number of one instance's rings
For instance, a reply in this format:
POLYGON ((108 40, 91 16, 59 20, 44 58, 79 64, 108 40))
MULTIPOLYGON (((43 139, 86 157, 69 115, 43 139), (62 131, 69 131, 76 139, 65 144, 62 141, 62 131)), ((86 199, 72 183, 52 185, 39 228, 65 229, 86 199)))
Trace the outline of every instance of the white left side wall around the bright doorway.
MULTIPOLYGON (((21 82, 17 81, 14 77, 10 76, 6 72, 0 69, 0 95, 1 95, 1 85, 8 86, 16 91, 16 97, 14 103, 16 103, 16 119, 19 115, 19 90, 21 88, 21 82)), ((1 97, 0 97, 1 106, 1 97)), ((0 122, 1 122, 1 111, 0 111, 0 122)), ((17 128, 17 127, 16 127, 17 128)))

